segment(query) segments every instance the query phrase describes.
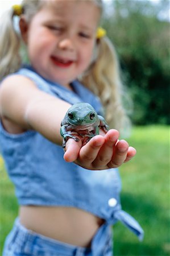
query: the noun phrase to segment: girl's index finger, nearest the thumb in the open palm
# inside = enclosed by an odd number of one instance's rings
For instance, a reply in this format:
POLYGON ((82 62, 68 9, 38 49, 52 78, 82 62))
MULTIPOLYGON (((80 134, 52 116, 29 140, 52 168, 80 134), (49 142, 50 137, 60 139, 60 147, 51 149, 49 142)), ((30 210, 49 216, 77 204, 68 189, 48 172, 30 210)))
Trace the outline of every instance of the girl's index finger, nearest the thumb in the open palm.
POLYGON ((80 150, 79 159, 83 162, 91 164, 96 159, 98 152, 105 142, 105 138, 101 135, 96 135, 85 144, 80 150))

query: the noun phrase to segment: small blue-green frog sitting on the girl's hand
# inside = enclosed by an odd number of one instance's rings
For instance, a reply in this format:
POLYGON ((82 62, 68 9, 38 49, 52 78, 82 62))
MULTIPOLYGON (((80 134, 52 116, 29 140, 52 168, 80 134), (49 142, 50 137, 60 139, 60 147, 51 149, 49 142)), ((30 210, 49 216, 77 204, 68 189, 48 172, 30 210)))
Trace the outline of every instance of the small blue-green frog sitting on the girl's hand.
POLYGON ((61 121, 60 134, 63 137, 63 148, 69 138, 80 141, 84 146, 91 138, 99 134, 99 129, 107 133, 109 125, 105 118, 98 115, 93 106, 86 102, 73 104, 61 121))

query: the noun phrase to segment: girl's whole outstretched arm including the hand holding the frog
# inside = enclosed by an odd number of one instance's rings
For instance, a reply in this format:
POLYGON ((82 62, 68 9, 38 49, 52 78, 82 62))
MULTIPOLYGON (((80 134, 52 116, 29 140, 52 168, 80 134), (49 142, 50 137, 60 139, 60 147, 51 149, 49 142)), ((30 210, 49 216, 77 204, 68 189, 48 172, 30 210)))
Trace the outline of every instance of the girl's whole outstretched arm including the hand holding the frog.
MULTIPOLYGON (((34 129, 56 144, 62 144, 60 124, 71 106, 36 88, 34 82, 23 76, 10 76, 1 84, 0 116, 13 125, 34 129)), ((97 135, 82 147, 81 140, 69 139, 64 159, 90 170, 121 166, 136 153, 126 141, 118 141, 117 130, 97 135)))

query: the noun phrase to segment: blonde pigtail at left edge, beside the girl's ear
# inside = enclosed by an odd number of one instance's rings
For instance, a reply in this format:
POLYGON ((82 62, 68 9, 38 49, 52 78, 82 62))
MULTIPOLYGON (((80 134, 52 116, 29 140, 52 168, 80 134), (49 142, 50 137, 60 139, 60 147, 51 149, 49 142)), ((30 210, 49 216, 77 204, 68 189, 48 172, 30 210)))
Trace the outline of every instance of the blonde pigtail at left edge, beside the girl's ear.
POLYGON ((20 38, 13 24, 14 10, 2 15, 0 24, 0 80, 16 72, 21 64, 19 56, 20 38))

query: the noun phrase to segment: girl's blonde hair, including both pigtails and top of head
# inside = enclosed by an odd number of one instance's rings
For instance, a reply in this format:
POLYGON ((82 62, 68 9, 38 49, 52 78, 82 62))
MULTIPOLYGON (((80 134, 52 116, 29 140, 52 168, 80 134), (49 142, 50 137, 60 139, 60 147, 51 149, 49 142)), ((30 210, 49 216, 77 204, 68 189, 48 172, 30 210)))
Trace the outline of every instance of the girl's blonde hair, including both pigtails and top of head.
MULTIPOLYGON (((80 0, 77 0, 80 1, 80 0)), ((83 1, 83 0, 81 0, 83 1)), ((93 1, 102 12, 102 0, 93 1)), ((48 1, 23 0, 22 10, 29 23, 32 17, 48 1)), ((0 37, 0 81, 3 77, 18 71, 22 65, 20 45, 22 39, 14 28, 14 10, 11 8, 1 21, 0 37)), ((113 44, 106 36, 97 40, 94 59, 81 82, 96 94, 105 109, 105 118, 110 127, 124 130, 129 126, 129 119, 122 104, 122 83, 119 75, 119 64, 113 44)))

